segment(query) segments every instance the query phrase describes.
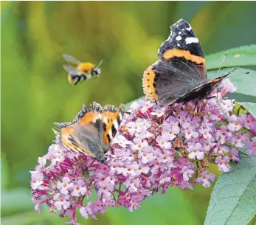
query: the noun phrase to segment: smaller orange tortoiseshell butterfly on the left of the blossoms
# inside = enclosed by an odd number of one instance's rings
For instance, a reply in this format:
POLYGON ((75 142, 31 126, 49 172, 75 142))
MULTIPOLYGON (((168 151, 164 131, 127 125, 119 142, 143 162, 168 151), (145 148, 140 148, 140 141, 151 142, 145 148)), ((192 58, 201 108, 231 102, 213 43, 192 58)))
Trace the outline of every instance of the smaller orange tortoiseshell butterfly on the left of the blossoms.
POLYGON ((60 132, 55 131, 57 142, 63 147, 84 153, 87 156, 103 159, 108 151, 111 139, 117 134, 124 114, 124 106, 115 108, 93 103, 89 109, 86 105, 77 113, 72 122, 55 123, 60 132))

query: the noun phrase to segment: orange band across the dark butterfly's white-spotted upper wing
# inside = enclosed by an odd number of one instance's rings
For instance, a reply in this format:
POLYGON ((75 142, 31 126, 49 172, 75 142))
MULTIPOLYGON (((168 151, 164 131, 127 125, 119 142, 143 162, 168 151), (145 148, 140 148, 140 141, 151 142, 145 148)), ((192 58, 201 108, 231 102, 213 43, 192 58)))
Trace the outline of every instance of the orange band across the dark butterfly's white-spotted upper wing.
POLYGON ((189 50, 169 49, 164 53, 165 60, 169 60, 175 57, 184 57, 186 60, 190 60, 193 61, 193 63, 198 64, 198 66, 204 66, 205 64, 204 58, 202 58, 201 56, 192 55, 189 50))

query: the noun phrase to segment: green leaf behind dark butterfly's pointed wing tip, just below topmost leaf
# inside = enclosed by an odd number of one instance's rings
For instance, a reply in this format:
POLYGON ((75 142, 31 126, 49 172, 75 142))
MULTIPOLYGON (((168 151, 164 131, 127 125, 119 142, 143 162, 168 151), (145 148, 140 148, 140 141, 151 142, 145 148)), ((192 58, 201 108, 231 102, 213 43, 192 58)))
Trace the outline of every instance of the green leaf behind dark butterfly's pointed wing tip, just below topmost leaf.
MULTIPOLYGON (((229 69, 227 68, 221 69, 219 73, 218 70, 212 70, 208 72, 208 77, 215 78, 228 71, 229 69)), ((246 94, 253 97, 256 96, 256 71, 252 69, 238 68, 235 72, 232 72, 232 74, 229 75, 229 79, 237 88, 237 91, 235 91, 236 94, 246 94), (250 73, 245 74, 246 72, 250 73)))

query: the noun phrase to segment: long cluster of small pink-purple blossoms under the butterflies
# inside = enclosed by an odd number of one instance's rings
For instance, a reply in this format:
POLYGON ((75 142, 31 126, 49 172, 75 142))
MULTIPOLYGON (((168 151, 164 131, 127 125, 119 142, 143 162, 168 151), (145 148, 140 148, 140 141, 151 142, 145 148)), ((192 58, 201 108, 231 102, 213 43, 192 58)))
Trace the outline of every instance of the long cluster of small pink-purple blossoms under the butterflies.
POLYGON ((35 209, 46 203, 50 212, 69 215, 77 224, 76 208, 84 218, 96 218, 107 207, 139 209, 145 198, 168 187, 210 187, 215 175, 209 163, 228 172, 239 161, 239 149, 256 152, 256 120, 234 109, 225 89, 208 100, 160 108, 145 100, 134 102, 107 153, 107 164, 51 145, 32 171, 35 209), (97 198, 92 199, 91 193, 97 198))

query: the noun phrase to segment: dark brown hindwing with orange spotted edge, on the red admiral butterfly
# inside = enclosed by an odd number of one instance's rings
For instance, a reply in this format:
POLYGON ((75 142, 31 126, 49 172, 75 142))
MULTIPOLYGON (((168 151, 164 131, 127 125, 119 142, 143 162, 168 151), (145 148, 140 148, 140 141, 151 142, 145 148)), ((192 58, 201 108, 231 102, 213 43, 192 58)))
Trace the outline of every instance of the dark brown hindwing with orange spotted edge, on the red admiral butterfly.
POLYGON ((146 69, 142 86, 148 100, 167 105, 205 80, 198 77, 194 66, 187 64, 184 59, 174 58, 172 63, 158 60, 146 69))

